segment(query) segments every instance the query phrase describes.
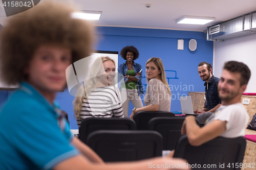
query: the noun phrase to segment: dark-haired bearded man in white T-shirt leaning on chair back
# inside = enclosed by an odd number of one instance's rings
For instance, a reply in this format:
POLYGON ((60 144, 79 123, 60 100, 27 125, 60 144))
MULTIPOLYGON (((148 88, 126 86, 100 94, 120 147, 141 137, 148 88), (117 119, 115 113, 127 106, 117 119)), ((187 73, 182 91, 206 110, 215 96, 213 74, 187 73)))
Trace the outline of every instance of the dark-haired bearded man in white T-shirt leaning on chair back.
POLYGON ((229 61, 225 63, 218 83, 221 106, 200 128, 195 116, 187 116, 181 128, 181 134, 187 134, 191 145, 201 145, 218 136, 236 138, 245 135, 248 113, 241 103, 241 96, 250 79, 250 69, 244 63, 229 61))

